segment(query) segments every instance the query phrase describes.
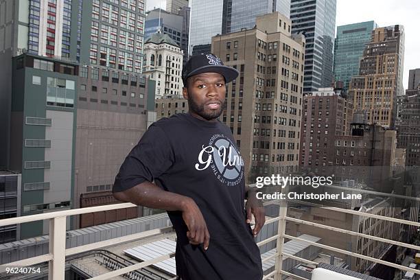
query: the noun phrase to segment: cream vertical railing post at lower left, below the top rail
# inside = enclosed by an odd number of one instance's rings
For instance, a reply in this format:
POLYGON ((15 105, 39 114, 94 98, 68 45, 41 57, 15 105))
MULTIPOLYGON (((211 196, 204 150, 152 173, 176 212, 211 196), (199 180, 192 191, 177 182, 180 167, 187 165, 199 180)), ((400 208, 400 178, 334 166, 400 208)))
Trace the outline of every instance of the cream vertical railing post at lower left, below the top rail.
POLYGON ((49 219, 49 253, 48 279, 65 279, 66 216, 49 219))

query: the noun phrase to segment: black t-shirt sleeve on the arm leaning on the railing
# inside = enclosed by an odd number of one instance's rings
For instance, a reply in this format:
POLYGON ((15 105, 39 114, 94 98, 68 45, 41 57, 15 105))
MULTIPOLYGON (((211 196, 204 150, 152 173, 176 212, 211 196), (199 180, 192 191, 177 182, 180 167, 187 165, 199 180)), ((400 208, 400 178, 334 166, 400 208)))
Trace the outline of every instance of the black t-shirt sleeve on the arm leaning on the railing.
POLYGON ((174 150, 165 132, 152 124, 132 148, 115 177, 113 192, 125 191, 135 185, 152 182, 174 163, 174 150))

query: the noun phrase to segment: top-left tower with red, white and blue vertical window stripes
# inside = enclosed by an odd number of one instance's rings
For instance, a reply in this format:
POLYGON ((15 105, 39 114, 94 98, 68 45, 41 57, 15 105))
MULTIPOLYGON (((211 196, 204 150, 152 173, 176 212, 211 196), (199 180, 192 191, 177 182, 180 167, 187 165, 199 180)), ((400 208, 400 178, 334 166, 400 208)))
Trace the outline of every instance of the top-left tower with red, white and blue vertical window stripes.
POLYGON ((12 58, 28 53, 78 60, 81 13, 81 0, 0 1, 0 129, 7 132, 0 136, 0 167, 10 165, 12 58))

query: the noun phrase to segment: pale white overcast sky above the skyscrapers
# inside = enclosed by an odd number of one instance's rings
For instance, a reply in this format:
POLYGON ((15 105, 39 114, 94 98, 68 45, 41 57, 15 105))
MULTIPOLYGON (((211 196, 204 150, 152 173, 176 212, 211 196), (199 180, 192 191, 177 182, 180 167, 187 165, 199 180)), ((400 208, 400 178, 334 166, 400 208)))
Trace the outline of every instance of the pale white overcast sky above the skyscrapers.
MULTIPOLYGON (((166 0, 145 0, 146 10, 165 9, 166 0)), ((420 3, 419 0, 337 0, 336 25, 375 21, 380 27, 401 24, 406 33, 404 57, 404 89, 408 70, 420 68, 420 3)))

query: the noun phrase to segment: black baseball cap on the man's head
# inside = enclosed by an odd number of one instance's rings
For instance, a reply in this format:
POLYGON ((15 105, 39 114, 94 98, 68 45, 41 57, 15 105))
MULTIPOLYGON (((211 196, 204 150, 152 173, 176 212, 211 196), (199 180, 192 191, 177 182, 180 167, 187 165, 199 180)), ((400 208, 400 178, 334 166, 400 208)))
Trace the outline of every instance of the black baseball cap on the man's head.
POLYGON ((214 54, 197 54, 191 56, 183 69, 183 83, 187 85, 187 78, 201 73, 220 73, 226 84, 237 78, 239 72, 232 67, 223 65, 222 60, 214 54))

